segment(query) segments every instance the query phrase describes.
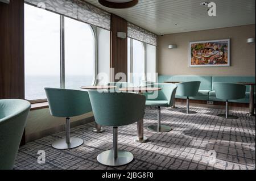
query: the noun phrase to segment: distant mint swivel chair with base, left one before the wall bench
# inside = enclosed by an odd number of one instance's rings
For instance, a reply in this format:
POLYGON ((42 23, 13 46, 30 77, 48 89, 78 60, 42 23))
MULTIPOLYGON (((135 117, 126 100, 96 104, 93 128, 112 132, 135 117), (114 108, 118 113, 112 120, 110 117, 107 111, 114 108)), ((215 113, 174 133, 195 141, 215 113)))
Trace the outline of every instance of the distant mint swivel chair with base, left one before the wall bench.
POLYGON ((200 81, 177 83, 176 95, 187 97, 187 110, 180 111, 180 112, 187 113, 187 114, 188 113, 196 113, 195 111, 189 111, 189 97, 194 97, 197 95, 197 92, 199 91, 200 84, 201 84, 200 81))

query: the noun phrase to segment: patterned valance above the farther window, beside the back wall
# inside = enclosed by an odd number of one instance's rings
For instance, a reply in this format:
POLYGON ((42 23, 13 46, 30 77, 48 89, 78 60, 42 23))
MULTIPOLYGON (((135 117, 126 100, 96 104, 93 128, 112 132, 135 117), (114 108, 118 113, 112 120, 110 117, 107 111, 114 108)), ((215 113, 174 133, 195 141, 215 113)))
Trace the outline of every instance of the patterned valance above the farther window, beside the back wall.
POLYGON ((129 22, 128 22, 127 36, 132 39, 139 40, 144 43, 148 43, 148 44, 156 46, 156 37, 157 36, 154 33, 146 31, 143 28, 138 27, 129 22))

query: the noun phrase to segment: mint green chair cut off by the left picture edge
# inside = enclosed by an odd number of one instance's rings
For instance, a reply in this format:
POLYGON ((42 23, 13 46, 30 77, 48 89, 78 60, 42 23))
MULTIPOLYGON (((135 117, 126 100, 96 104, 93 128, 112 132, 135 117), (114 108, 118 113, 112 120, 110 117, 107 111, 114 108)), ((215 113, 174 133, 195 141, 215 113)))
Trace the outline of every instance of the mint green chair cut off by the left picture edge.
POLYGON ((0 170, 13 169, 30 107, 26 100, 0 100, 0 170))

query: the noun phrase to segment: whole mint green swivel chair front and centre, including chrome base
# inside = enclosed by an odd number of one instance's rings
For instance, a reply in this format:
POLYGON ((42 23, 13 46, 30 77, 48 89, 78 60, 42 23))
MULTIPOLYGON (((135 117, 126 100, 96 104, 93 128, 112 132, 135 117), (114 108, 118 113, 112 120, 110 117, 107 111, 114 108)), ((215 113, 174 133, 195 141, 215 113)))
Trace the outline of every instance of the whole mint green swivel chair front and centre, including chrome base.
POLYGON ((121 166, 133 161, 133 154, 117 149, 117 129, 133 124, 144 116, 146 98, 140 94, 127 92, 89 91, 90 102, 97 124, 113 127, 113 150, 97 156, 102 165, 121 166))

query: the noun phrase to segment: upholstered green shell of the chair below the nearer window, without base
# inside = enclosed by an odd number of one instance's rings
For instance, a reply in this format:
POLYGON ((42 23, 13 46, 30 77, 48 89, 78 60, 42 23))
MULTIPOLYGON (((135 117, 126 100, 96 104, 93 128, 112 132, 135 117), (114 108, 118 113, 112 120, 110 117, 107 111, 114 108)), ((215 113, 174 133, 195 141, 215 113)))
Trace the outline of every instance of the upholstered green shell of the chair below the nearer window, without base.
POLYGON ((92 111, 86 91, 55 88, 45 90, 52 116, 72 117, 92 111))

